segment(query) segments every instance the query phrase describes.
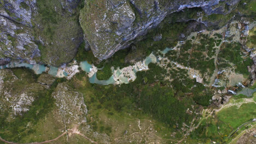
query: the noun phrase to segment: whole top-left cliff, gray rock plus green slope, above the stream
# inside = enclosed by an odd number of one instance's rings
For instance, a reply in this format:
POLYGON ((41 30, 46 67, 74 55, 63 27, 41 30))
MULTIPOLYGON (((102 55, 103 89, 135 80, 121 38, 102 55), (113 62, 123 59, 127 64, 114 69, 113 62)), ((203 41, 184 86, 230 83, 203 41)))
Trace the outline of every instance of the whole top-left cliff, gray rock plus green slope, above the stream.
POLYGON ((80 0, 0 1, 0 64, 23 61, 59 66, 83 41, 76 20, 80 0))

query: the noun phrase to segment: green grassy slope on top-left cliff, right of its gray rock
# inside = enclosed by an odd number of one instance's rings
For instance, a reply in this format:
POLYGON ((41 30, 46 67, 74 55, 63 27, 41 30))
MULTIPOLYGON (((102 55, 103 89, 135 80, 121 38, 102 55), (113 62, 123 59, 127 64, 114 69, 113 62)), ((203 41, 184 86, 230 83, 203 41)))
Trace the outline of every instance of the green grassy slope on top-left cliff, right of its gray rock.
POLYGON ((39 0, 36 6, 38 14, 33 17, 32 32, 36 41, 43 40, 43 46, 39 46, 41 61, 54 66, 72 61, 83 41, 82 28, 77 19, 79 7, 70 14, 57 0, 39 0))

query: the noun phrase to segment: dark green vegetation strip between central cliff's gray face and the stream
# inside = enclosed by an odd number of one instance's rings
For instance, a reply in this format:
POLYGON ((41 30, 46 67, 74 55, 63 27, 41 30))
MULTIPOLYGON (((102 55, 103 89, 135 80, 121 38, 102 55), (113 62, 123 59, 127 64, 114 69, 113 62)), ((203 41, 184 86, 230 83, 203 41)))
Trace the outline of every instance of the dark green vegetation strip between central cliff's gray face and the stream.
MULTIPOLYGON (((136 50, 130 50, 125 57, 125 61, 140 61, 150 55, 151 52, 158 52, 164 50, 166 47, 173 47, 177 44, 177 40, 181 33, 185 32, 188 23, 172 22, 168 16, 160 25, 154 29, 150 29, 144 39, 136 42, 133 46, 136 50), (162 34, 162 39, 154 41, 154 35, 162 34)), ((138 38, 140 39, 140 38, 138 38)), ((130 47, 132 48, 132 46, 130 47)))

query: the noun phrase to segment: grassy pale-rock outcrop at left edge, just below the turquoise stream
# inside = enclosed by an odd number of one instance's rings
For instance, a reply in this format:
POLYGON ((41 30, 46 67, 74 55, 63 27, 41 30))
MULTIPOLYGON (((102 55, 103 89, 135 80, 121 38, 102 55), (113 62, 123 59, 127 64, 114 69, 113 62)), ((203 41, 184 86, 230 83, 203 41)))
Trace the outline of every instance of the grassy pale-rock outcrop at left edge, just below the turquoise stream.
POLYGON ((45 86, 37 83, 33 77, 28 78, 29 76, 29 71, 0 70, 0 115, 9 113, 7 121, 30 110, 38 93, 46 91, 45 86))

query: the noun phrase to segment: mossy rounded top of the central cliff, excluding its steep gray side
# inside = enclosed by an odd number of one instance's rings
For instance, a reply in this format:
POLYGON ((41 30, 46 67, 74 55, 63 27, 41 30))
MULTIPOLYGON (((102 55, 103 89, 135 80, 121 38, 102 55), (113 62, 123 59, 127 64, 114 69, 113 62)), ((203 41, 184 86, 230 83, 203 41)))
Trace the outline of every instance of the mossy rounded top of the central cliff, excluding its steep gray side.
POLYGON ((121 43, 125 30, 130 31, 135 20, 127 1, 88 1, 80 15, 86 40, 98 58, 117 51, 114 47, 121 43))

